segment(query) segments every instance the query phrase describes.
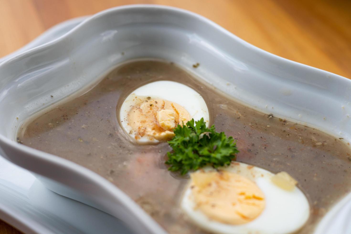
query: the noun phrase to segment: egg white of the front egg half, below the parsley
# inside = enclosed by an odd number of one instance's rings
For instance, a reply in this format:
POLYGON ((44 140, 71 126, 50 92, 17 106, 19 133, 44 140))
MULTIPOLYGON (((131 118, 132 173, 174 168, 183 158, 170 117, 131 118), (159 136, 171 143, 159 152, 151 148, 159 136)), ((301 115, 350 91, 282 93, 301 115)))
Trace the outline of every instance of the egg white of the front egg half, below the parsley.
MULTIPOLYGON (((229 167, 220 168, 237 173, 254 181, 262 190, 266 199, 263 212, 253 221, 242 225, 229 225, 210 220, 200 209, 195 209, 188 187, 181 201, 181 207, 188 216, 201 228, 218 234, 289 234, 300 229, 310 215, 310 206, 303 192, 295 187, 287 191, 271 182, 273 173, 245 163, 234 162, 229 167)), ((205 171, 213 171, 205 168, 205 171)))

